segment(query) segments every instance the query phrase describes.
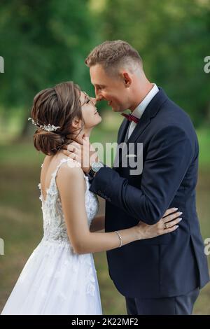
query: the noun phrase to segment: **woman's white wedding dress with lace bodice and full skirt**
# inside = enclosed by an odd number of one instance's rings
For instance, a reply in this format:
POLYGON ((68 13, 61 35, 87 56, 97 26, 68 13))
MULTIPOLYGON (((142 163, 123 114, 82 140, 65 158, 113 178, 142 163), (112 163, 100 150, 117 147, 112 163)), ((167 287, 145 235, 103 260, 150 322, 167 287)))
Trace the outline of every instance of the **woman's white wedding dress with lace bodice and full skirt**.
MULTIPOLYGON (((55 181, 59 167, 69 160, 62 159, 52 174, 46 200, 41 193, 43 239, 27 260, 2 315, 102 314, 92 254, 73 252, 55 181)), ((85 208, 90 226, 99 205, 97 196, 89 191, 87 176, 84 177, 87 186, 85 208)), ((41 188, 40 184, 38 186, 41 188)))

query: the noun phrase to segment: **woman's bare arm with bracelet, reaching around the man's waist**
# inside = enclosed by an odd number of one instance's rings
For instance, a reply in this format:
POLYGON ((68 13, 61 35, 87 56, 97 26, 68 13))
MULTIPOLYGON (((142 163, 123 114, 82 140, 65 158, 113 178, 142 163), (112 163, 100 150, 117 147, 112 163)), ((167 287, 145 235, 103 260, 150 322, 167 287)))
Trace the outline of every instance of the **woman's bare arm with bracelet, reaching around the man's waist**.
MULTIPOLYGON (((82 169, 69 168, 68 165, 64 165, 60 168, 56 181, 66 229, 75 253, 97 253, 118 248, 120 240, 116 232, 90 232, 85 211, 85 181, 82 169)), ((168 220, 163 218, 155 225, 138 224, 132 228, 119 230, 123 245, 176 230, 177 227, 174 225, 179 221, 177 219, 172 221, 172 219, 178 216, 177 214, 176 216, 171 215, 168 220), (164 228, 166 221, 171 221, 168 223, 167 229, 164 228)))

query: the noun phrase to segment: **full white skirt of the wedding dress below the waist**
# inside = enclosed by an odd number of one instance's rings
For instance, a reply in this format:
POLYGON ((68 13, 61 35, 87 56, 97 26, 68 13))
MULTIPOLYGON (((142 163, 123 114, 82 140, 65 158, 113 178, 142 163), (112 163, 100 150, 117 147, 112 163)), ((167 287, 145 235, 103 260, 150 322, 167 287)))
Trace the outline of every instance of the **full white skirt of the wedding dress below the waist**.
POLYGON ((92 254, 73 253, 68 241, 42 239, 1 314, 102 314, 92 254))

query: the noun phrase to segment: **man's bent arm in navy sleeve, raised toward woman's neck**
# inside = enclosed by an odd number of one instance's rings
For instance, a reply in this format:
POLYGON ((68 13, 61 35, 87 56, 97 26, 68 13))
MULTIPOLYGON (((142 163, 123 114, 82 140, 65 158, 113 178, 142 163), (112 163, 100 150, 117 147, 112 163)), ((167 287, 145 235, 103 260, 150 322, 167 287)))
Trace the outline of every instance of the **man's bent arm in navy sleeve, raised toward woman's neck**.
POLYGON ((165 127, 151 140, 139 188, 131 186, 116 170, 104 167, 92 180, 90 191, 134 218, 157 223, 174 200, 197 154, 198 147, 193 146, 183 129, 165 127))

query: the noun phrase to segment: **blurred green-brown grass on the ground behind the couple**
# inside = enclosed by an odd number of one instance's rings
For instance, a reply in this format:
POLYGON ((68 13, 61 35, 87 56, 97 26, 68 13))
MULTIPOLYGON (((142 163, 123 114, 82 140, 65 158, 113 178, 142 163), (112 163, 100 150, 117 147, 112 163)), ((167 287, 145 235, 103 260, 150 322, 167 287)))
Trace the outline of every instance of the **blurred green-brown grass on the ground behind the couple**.
MULTIPOLYGON (((200 175, 197 185, 197 211, 202 236, 210 237, 210 157, 209 131, 198 132, 200 140, 200 175)), ((91 141, 116 141, 116 131, 101 125, 91 141)), ((0 255, 0 311, 30 253, 42 237, 41 202, 37 184, 43 155, 32 146, 9 144, 0 146, 0 237, 5 241, 5 255, 0 255)), ((101 200, 101 212, 104 202, 101 200)), ((209 256, 210 258, 210 256, 209 256)), ((106 253, 94 255, 104 314, 126 314, 125 300, 113 286, 106 264, 106 253)), ((195 303, 194 314, 210 314, 210 286, 207 285, 195 303)))

